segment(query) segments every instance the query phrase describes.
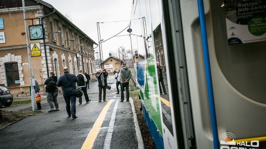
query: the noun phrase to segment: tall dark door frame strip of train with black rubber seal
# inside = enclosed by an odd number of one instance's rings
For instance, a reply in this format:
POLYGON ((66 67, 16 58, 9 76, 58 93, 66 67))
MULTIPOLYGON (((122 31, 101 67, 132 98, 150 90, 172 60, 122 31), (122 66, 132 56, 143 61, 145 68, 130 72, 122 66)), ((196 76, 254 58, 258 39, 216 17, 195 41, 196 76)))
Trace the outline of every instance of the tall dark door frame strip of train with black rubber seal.
POLYGON ((178 149, 196 149, 179 2, 162 0, 162 12, 165 52, 163 58, 166 63, 167 86, 170 93, 168 101, 171 105, 172 120, 171 128, 169 121, 165 119, 165 102, 161 100, 164 145, 166 149, 176 149, 171 142, 173 141, 177 142, 178 149))

